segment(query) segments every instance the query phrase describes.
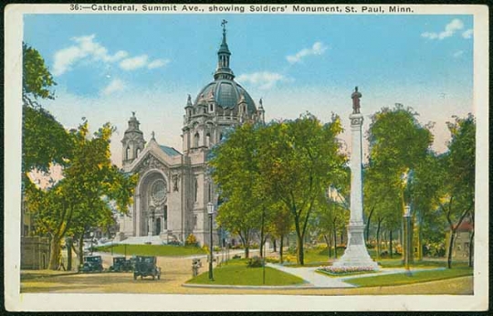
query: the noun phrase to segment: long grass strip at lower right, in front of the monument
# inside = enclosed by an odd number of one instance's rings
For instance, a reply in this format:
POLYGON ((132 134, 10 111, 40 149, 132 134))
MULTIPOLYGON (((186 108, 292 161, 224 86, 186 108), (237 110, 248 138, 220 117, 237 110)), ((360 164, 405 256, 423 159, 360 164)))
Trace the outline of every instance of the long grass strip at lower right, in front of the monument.
MULTIPOLYGON (((412 272, 412 271, 411 271, 412 272)), ((433 271, 418 271, 412 272, 411 276, 404 273, 389 274, 376 277, 356 278, 347 280, 348 283, 359 287, 384 287, 394 286, 401 284, 412 284, 427 282, 439 279, 453 279, 458 277, 471 276, 473 269, 467 267, 458 267, 445 270, 433 270, 433 271)))

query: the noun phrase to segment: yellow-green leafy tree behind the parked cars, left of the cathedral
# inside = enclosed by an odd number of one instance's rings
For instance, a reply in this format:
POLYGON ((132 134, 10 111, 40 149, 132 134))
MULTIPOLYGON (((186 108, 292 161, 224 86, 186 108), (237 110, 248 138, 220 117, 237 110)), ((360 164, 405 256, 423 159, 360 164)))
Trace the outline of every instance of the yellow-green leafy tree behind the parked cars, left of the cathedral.
MULTIPOLYGON (((68 233, 81 239, 89 227, 104 225, 112 215, 111 201, 121 212, 131 204, 137 175, 122 174, 110 162, 112 131, 107 123, 89 137, 89 124, 84 121, 71 132, 72 157, 58 184, 45 190, 27 186, 26 202, 38 230, 50 237, 49 269, 58 269, 60 242, 68 233)), ((83 256, 80 249, 79 256, 83 256)))

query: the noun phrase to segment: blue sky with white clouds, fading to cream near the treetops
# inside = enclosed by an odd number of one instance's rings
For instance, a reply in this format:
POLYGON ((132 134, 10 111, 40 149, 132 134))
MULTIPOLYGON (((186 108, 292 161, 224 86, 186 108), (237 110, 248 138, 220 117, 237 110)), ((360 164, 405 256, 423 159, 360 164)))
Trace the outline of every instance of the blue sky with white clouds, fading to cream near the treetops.
POLYGON ((236 81, 263 99, 267 121, 336 113, 349 147, 358 86, 363 132, 374 112, 402 103, 435 122, 433 148, 444 152, 446 121, 475 111, 472 16, 38 14, 24 16, 24 41, 58 84, 43 106, 68 128, 110 121, 121 165, 131 111, 146 141, 154 131, 182 151, 187 95, 213 80, 223 19, 236 81))

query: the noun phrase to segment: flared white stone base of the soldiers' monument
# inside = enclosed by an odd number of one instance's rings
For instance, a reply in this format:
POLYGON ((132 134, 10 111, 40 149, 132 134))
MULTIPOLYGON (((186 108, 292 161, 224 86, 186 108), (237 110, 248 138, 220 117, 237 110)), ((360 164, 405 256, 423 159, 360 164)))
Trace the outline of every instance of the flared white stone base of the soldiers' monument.
POLYGON ((365 267, 379 269, 378 263, 372 260, 364 243, 364 225, 351 224, 348 226, 348 246, 339 260, 332 267, 365 267))

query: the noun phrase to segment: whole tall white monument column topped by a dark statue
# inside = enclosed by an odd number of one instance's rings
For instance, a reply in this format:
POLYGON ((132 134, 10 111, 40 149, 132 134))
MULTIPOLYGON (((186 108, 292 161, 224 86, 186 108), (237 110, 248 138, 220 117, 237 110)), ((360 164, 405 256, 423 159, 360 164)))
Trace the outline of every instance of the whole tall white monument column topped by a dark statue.
POLYGON ((360 99, 362 94, 355 88, 351 94, 351 217, 348 226, 348 243, 344 255, 334 267, 372 267, 378 264, 370 258, 364 242, 364 222, 362 216, 362 122, 360 99))

